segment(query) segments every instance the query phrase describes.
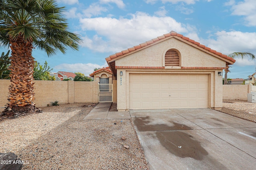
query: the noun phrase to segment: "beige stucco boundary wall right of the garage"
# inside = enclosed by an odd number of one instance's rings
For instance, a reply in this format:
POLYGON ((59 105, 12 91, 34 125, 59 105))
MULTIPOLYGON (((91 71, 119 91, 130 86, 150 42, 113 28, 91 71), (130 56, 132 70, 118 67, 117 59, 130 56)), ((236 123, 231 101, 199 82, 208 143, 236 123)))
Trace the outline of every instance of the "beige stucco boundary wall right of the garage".
POLYGON ((247 100, 247 94, 251 91, 250 84, 223 85, 223 100, 247 100))

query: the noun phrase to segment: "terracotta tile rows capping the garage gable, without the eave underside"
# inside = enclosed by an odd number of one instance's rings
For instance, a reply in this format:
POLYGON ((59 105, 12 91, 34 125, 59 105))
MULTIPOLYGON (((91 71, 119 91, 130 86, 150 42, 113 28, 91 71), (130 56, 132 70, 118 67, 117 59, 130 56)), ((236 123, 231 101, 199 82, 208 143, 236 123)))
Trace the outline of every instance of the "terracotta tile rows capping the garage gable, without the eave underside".
POLYGON ((134 46, 132 48, 129 48, 129 49, 126 49, 124 51, 118 52, 116 54, 110 55, 109 57, 106 58, 106 61, 107 62, 111 61, 112 59, 115 59, 115 58, 120 57, 122 55, 127 55, 128 53, 131 53, 132 51, 139 50, 139 49, 141 49, 143 47, 146 47, 146 46, 151 45, 153 43, 158 43, 158 42, 160 42, 160 40, 168 39, 170 37, 178 37, 179 39, 184 39, 184 40, 188 41, 189 43, 197 45, 198 47, 200 47, 200 48, 202 48, 204 50, 207 50, 207 51, 209 51, 209 52, 211 52, 211 53, 213 53, 215 55, 218 55, 218 56, 220 56, 220 57, 222 57, 224 59, 228 59, 229 61, 231 61, 230 64, 233 64, 236 61, 235 59, 233 59, 231 57, 228 57, 227 55, 224 55, 224 54, 219 53, 219 52, 217 52, 217 51, 215 51, 213 49, 210 49, 209 47, 206 47, 205 45, 202 45, 202 44, 200 44, 200 43, 198 43, 198 42, 196 42, 196 41, 194 41, 192 39, 189 39, 188 37, 185 37, 185 36, 183 36, 181 34, 176 33, 175 31, 171 31, 170 33, 167 33, 167 34, 164 34, 162 36, 156 37, 156 38, 154 38, 154 39, 152 39, 150 41, 146 41, 145 43, 142 43, 140 45, 136 45, 136 46, 134 46))

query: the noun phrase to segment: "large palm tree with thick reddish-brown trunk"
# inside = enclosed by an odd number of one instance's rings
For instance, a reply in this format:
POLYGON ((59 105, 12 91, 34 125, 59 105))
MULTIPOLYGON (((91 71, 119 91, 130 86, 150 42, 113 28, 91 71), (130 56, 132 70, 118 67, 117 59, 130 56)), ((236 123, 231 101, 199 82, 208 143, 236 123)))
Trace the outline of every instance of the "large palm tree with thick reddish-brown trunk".
POLYGON ((12 51, 8 104, 2 114, 38 111, 32 49, 48 56, 65 53, 66 47, 78 50, 80 37, 68 31, 64 10, 55 0, 0 0, 0 45, 12 51))

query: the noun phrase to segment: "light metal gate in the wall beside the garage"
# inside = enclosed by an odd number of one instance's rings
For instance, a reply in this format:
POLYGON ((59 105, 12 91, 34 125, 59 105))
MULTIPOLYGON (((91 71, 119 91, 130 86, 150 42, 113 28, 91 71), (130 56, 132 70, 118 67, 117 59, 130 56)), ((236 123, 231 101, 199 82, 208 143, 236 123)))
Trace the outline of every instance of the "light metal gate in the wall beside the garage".
POLYGON ((99 102, 113 102, 113 84, 99 84, 99 102))

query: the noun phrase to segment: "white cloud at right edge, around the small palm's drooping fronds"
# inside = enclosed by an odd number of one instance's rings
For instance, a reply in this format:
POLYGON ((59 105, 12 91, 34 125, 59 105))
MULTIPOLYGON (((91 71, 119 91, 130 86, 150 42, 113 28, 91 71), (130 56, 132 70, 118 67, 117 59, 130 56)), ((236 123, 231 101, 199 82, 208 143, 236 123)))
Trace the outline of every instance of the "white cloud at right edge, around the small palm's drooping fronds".
MULTIPOLYGON (((234 52, 250 52, 256 55, 255 32, 218 31, 215 33, 214 37, 216 37, 216 39, 202 39, 202 44, 226 55, 234 52)), ((236 64, 239 66, 256 65, 256 61, 251 61, 247 58, 243 60, 236 59, 236 64)))

